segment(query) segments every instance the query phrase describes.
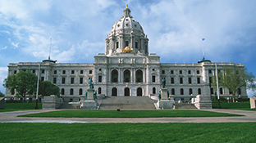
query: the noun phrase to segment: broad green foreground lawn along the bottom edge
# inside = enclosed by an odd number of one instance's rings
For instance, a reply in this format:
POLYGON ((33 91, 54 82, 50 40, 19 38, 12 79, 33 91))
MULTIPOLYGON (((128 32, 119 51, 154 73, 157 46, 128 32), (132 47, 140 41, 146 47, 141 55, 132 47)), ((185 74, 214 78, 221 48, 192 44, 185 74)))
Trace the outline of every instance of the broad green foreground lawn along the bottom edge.
POLYGON ((256 123, 0 123, 1 142, 254 142, 256 123))

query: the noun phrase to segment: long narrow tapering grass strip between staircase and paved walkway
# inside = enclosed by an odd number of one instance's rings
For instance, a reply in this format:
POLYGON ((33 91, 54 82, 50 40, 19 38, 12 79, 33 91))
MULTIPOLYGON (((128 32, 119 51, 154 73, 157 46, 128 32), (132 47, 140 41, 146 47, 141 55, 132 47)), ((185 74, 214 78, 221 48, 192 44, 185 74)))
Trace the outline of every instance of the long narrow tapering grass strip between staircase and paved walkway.
POLYGON ((58 118, 161 118, 161 117, 220 117, 240 116, 202 110, 60 110, 39 114, 25 114, 19 117, 58 118))

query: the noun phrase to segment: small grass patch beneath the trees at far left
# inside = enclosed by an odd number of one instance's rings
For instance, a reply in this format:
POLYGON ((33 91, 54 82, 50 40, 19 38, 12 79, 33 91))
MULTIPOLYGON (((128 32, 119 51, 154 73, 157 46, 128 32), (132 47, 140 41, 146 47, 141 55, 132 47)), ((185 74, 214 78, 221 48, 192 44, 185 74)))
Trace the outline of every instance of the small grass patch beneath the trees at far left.
MULTIPOLYGON (((38 104, 39 109, 42 109, 42 103, 38 104)), ((35 103, 6 103, 4 109, 0 109, 0 112, 10 112, 16 110, 28 110, 34 109, 35 103)))

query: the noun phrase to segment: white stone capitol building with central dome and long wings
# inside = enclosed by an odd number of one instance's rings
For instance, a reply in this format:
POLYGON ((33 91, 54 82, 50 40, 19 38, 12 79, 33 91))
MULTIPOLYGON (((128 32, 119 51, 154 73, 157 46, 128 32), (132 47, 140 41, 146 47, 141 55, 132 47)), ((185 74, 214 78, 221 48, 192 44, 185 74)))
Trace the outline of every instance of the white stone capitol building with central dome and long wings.
MULTIPOLYGON (((8 75, 20 70, 38 74, 42 81, 49 80, 60 88, 64 101, 80 101, 89 88, 89 78, 100 96, 157 96, 162 78, 175 101, 187 101, 190 96, 215 96, 211 77, 224 66, 243 64, 215 63, 200 60, 196 63, 160 63, 160 56, 149 53, 149 38, 142 25, 130 15, 126 6, 105 38, 105 53, 94 56, 94 63, 20 62, 8 65, 8 75)), ((220 86, 220 96, 231 97, 228 89, 220 86)), ((22 98, 6 90, 6 98, 22 98)), ((246 97, 246 88, 239 89, 237 97, 246 97)), ((33 98, 28 96, 28 98, 33 98)))

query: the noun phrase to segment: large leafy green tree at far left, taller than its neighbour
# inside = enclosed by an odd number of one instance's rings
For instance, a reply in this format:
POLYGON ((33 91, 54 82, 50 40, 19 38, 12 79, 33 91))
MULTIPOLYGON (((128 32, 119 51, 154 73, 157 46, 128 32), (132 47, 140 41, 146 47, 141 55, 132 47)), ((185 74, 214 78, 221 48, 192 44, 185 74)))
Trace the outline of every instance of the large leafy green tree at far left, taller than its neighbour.
POLYGON ((17 74, 9 75, 3 81, 3 86, 7 87, 12 94, 21 95, 25 101, 27 94, 34 95, 36 92, 37 76, 30 71, 19 71, 17 74))

